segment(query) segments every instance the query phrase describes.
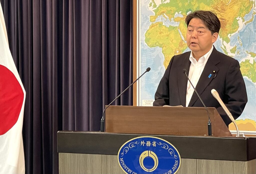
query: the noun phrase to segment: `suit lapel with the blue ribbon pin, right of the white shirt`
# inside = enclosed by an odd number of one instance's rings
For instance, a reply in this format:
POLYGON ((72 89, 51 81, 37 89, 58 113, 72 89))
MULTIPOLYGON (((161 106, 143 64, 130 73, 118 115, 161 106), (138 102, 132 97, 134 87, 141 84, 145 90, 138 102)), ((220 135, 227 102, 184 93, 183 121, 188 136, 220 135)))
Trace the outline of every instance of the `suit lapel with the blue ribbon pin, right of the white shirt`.
MULTIPOLYGON (((212 50, 212 53, 205 65, 205 68, 198 80, 198 83, 196 85, 196 90, 198 92, 199 95, 202 94, 202 92, 205 90, 205 88, 208 86, 208 84, 212 81, 213 79, 213 75, 208 78, 208 76, 210 74, 213 74, 213 71, 216 71, 216 73, 219 71, 219 68, 216 67, 216 65, 220 62, 219 58, 217 57, 217 50, 215 49, 215 47, 212 50)), ((192 107, 194 105, 194 103, 198 100, 198 96, 196 95, 196 92, 194 91, 191 100, 188 104, 188 107, 192 107)))

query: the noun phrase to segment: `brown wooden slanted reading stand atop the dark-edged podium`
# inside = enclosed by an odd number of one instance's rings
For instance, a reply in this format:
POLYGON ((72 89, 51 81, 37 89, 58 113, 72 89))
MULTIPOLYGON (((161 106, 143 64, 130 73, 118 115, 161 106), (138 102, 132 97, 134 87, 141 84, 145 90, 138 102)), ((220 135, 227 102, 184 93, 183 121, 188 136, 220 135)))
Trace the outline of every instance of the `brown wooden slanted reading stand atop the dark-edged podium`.
MULTIPOLYGON (((212 136, 232 136, 216 108, 208 108, 212 136)), ((208 135, 204 107, 109 106, 106 132, 161 135, 208 135)))

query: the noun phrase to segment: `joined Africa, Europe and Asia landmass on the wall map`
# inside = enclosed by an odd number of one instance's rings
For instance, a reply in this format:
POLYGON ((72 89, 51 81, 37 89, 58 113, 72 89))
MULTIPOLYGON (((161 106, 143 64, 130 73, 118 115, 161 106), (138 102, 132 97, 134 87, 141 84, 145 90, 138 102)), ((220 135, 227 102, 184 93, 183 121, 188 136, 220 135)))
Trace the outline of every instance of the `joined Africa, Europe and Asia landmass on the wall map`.
MULTIPOLYGON (((230 42, 230 34, 235 33, 239 29, 238 21, 244 21, 244 16, 253 8, 253 1, 250 0, 219 0, 219 1, 204 1, 204 0, 180 0, 163 3, 161 1, 158 7, 155 7, 155 15, 150 16, 152 24, 145 33, 145 43, 149 47, 160 47, 164 54, 164 66, 167 68, 172 56, 181 54, 187 48, 185 18, 188 12, 195 10, 214 11, 221 22, 219 36, 223 42, 230 42), (176 13, 183 17, 174 17, 176 13), (158 16, 163 16, 170 21, 179 22, 177 27, 166 27, 162 22, 155 22, 158 16), (182 36, 184 40, 182 39, 182 36)), ((155 1, 150 1, 151 6, 155 5, 155 1)), ((253 16, 250 19, 253 20, 253 16)), ((226 48, 221 48, 227 54, 226 48)), ((233 51, 233 50, 232 50, 233 51)))

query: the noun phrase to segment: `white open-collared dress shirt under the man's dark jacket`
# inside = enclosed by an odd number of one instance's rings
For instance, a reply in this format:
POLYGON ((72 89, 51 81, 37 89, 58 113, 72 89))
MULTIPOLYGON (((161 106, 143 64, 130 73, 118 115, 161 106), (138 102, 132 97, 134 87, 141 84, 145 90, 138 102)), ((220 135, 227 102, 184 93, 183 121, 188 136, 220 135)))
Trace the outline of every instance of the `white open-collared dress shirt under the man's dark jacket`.
MULTIPOLYGON (((205 64, 207 63, 207 60, 209 59, 211 52, 213 50, 213 46, 211 47, 210 51, 203 55, 202 57, 199 58, 198 61, 194 58, 192 51, 190 53, 189 60, 191 61, 190 68, 189 68, 189 73, 188 73, 188 78, 190 79, 191 83, 194 85, 196 88, 197 82, 205 68, 205 64)), ((188 104, 191 100, 191 97, 194 93, 194 89, 191 86, 191 84, 187 83, 187 93, 186 93, 186 107, 188 107, 188 104)))

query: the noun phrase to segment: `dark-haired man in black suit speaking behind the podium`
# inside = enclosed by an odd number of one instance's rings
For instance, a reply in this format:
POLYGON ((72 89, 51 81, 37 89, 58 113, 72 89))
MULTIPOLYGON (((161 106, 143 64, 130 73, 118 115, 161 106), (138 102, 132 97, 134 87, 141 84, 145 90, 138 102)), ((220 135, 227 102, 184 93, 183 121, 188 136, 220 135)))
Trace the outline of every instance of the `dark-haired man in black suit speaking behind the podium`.
POLYGON ((228 126, 228 118, 212 96, 215 89, 234 119, 247 103, 247 93, 239 62, 218 52, 212 45, 218 38, 220 21, 210 11, 195 11, 186 17, 187 45, 191 52, 173 56, 155 93, 153 106, 204 107, 188 82, 183 69, 206 107, 215 107, 228 126))

